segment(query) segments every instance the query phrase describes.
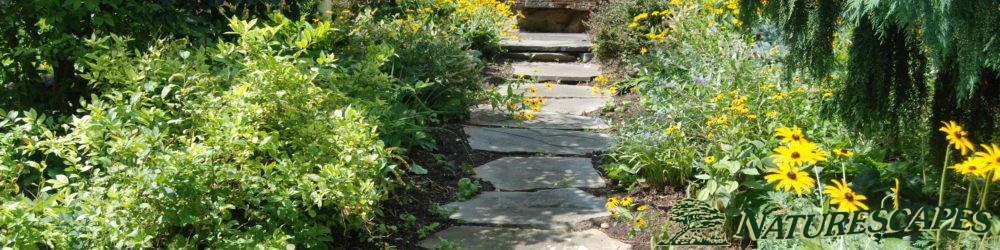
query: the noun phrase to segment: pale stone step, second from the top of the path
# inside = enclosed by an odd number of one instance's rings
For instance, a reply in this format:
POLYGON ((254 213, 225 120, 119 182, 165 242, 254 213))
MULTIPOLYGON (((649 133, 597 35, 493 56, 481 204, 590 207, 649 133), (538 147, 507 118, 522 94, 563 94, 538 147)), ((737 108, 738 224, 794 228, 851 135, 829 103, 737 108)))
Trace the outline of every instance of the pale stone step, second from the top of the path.
POLYGON ((540 81, 589 82, 601 74, 601 67, 591 63, 517 62, 511 66, 514 76, 540 81))

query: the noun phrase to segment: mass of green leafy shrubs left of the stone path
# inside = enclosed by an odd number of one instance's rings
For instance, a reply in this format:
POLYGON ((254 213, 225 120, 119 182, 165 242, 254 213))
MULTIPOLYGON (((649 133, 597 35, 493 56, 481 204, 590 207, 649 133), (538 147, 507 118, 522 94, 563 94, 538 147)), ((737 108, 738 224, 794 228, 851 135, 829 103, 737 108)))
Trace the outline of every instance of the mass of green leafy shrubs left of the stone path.
MULTIPOLYGON (((481 56, 514 15, 497 1, 191 6, 181 14, 216 26, 157 32, 105 29, 106 14, 127 13, 108 8, 134 6, 92 2, 79 10, 86 29, 58 33, 55 12, 0 25, 15 34, 0 46, 28 50, 0 52, 5 247, 379 240, 382 203, 419 172, 407 153, 435 147, 429 126, 487 97, 481 56), (47 39, 60 39, 50 34, 78 39, 72 56, 49 57, 59 49, 47 39), (46 74, 64 85, 46 88, 46 74)), ((2 13, 22 8, 35 7, 0 2, 2 13)))

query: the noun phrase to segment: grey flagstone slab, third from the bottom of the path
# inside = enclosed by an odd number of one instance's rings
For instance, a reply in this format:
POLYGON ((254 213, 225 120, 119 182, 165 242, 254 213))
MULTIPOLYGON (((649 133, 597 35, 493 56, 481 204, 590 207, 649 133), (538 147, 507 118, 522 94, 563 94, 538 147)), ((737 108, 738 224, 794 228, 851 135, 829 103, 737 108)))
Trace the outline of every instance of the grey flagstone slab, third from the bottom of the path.
POLYGON ((590 158, 583 157, 504 157, 474 170, 501 190, 604 187, 590 158))

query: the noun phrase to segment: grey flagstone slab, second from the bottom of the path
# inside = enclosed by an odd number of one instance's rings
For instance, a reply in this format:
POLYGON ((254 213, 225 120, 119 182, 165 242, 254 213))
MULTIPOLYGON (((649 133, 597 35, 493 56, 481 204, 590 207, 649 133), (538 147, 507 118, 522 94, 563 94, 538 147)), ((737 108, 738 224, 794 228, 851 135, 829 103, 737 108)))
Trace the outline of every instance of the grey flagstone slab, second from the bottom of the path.
POLYGON ((604 201, 576 188, 546 189, 535 192, 483 192, 462 202, 452 219, 465 223, 519 225, 537 228, 572 228, 581 221, 610 216, 604 201))

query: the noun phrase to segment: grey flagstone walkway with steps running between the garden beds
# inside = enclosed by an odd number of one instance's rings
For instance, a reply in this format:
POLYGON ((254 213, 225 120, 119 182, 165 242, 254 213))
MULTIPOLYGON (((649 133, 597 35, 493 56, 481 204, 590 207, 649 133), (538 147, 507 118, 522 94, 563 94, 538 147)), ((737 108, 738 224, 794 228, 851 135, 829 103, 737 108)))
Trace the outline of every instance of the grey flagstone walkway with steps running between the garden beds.
MULTIPOLYGON (((463 249, 628 249, 630 245, 591 229, 573 232, 574 224, 609 216, 604 201, 580 188, 607 185, 588 153, 607 150, 610 135, 591 132, 606 129, 596 118, 583 116, 597 110, 609 97, 594 96, 589 82, 601 74, 596 64, 577 62, 592 44, 586 34, 521 33, 520 41, 502 45, 513 58, 515 75, 555 81, 552 89, 535 87, 545 97, 541 112, 529 121, 508 119, 489 107, 477 107, 464 131, 475 150, 538 153, 531 157, 504 157, 476 167, 476 177, 499 191, 445 205, 457 209, 452 219, 463 225, 431 235, 420 243, 434 248, 447 239, 463 249), (556 58, 556 60, 553 60, 556 58), (562 59, 574 60, 566 61, 562 59), (545 61, 545 62, 541 62, 545 61), (556 61, 556 62, 552 62, 556 61)), ((526 94, 528 95, 528 94, 526 94)))

